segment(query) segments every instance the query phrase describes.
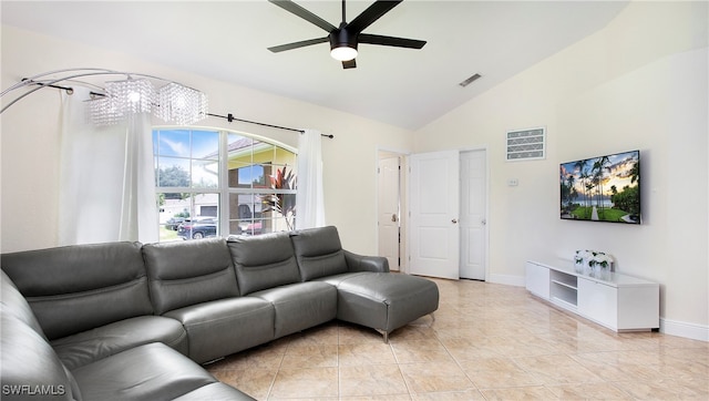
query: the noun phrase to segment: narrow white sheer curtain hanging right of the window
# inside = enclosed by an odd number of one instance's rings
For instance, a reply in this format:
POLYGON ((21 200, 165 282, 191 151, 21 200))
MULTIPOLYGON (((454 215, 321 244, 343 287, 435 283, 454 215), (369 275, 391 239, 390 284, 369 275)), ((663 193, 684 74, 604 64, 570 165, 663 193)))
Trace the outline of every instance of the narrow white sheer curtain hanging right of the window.
POLYGON ((298 141, 296 227, 299 229, 325 226, 321 142, 322 135, 315 130, 305 130, 298 141))

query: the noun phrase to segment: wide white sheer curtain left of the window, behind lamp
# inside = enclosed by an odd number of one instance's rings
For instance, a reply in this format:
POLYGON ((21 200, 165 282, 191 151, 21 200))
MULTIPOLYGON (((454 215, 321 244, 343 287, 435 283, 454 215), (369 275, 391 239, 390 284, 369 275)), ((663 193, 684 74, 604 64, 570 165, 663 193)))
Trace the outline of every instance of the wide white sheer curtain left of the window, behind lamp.
POLYGON ((150 115, 96 127, 89 90, 62 103, 60 245, 158 239, 150 115))

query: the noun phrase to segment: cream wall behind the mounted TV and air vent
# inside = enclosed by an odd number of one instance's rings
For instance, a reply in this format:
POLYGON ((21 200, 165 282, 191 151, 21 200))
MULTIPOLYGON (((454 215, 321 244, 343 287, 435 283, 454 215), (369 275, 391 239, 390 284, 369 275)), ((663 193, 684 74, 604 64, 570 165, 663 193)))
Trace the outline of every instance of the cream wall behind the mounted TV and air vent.
POLYGON ((619 271, 661 284, 666 331, 709 340, 707 16, 707 2, 630 3, 415 133, 417 152, 489 146, 491 277, 606 250, 619 271), (505 162, 505 132, 533 126, 547 127, 546 160, 505 162), (636 148, 643 225, 559 219, 559 163, 636 148))

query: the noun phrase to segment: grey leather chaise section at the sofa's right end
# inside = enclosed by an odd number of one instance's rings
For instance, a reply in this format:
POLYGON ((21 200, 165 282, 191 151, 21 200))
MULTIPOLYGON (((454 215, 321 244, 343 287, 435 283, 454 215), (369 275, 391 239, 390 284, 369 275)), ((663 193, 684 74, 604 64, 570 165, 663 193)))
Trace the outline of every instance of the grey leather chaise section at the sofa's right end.
POLYGON ((337 318, 389 333, 432 313, 439 288, 422 277, 368 273, 340 281, 337 318))

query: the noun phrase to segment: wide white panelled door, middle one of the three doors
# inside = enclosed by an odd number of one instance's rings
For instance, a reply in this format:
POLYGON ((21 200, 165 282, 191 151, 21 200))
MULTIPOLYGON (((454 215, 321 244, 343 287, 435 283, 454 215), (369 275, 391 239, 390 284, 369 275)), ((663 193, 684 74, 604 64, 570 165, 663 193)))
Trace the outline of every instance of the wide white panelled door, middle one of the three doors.
POLYGON ((410 158, 410 166, 409 273, 458 279, 459 152, 415 154, 410 158))

